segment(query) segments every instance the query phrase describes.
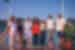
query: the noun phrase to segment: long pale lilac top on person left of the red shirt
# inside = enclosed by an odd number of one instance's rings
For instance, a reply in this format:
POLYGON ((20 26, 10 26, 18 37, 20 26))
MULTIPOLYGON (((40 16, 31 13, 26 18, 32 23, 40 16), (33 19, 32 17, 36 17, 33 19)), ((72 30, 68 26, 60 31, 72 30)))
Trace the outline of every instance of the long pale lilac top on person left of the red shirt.
POLYGON ((32 27, 32 22, 31 21, 25 21, 24 23, 24 38, 30 38, 32 33, 31 33, 31 27, 32 27))

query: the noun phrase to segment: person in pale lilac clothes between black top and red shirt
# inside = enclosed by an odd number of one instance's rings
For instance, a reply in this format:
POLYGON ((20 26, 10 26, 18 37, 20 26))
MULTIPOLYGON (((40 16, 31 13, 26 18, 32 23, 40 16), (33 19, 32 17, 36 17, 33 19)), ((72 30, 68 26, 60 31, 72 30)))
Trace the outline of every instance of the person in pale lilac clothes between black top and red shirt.
POLYGON ((27 48, 32 47, 32 21, 30 17, 27 17, 26 20, 24 21, 24 38, 27 41, 27 48))

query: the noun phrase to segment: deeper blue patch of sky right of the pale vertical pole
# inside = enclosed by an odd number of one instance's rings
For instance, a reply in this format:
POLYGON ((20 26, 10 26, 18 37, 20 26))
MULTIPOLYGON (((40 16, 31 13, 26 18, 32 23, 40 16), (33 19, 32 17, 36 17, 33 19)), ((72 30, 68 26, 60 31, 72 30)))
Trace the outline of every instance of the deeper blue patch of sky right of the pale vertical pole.
POLYGON ((64 0, 64 14, 75 18, 75 0, 64 0))

